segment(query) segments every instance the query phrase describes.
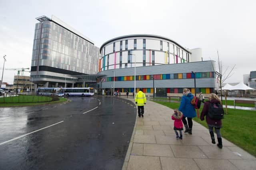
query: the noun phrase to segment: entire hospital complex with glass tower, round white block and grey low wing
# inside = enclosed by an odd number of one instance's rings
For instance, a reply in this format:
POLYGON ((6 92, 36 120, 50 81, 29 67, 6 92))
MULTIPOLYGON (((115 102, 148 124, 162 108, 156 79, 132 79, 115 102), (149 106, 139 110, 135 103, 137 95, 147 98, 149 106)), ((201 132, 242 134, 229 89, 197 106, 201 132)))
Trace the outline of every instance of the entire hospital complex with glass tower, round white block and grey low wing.
POLYGON ((210 94, 217 88, 215 61, 203 61, 200 48, 148 34, 116 37, 99 48, 54 16, 36 19, 31 79, 37 85, 108 92, 134 92, 136 86, 151 96, 153 86, 157 96, 179 96, 183 88, 210 94))

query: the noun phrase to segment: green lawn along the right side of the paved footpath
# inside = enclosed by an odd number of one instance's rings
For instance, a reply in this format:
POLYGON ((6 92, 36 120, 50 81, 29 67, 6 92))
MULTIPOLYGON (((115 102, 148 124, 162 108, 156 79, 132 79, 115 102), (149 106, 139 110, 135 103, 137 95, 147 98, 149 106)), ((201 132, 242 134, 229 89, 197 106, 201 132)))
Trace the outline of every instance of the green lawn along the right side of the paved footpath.
MULTIPOLYGON (((179 103, 172 102, 158 102, 164 106, 172 109, 179 108, 179 103)), ((199 109, 199 115, 202 107, 199 109)), ((206 121, 201 121, 199 118, 193 118, 194 121, 207 127, 206 121)), ((246 150, 250 154, 256 156, 256 111, 241 110, 241 109, 228 109, 228 115, 224 115, 222 119, 221 135, 225 139, 234 143, 238 147, 246 150)), ((210 135, 209 135, 210 139, 210 135)))

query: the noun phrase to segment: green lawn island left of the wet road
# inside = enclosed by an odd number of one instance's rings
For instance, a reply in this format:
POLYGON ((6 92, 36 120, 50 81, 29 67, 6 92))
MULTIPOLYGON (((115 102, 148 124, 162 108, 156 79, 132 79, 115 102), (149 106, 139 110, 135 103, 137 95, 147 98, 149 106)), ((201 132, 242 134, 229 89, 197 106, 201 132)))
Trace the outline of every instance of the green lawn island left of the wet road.
POLYGON ((52 98, 48 96, 14 96, 8 98, 0 98, 0 107, 44 105, 66 101, 66 98, 60 97, 59 100, 52 102, 52 98))

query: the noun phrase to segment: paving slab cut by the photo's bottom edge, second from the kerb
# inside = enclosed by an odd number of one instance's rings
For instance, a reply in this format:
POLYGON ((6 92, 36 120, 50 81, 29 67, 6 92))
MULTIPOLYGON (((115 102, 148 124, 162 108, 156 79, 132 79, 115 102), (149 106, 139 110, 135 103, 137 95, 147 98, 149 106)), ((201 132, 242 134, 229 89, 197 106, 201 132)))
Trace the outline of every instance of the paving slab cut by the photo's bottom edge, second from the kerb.
POLYGON ((160 157, 163 170, 200 170, 192 158, 160 157))

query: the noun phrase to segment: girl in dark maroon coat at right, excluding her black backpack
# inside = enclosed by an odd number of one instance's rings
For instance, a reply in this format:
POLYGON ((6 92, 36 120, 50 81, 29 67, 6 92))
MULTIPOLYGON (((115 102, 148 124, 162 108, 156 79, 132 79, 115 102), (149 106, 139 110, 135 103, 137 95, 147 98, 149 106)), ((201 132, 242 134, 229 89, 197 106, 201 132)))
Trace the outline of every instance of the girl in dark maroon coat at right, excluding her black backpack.
POLYGON ((211 119, 208 115, 209 107, 212 103, 221 104, 220 98, 214 93, 211 93, 210 96, 209 96, 209 101, 205 102, 204 107, 203 107, 202 112, 201 112, 201 115, 200 115, 200 119, 203 121, 204 116, 206 115, 206 123, 208 124, 209 132, 210 132, 211 139, 212 139, 212 143, 213 144, 216 143, 215 138, 214 138, 214 132, 213 132, 213 128, 214 128, 215 132, 217 134, 217 139, 218 139, 217 146, 220 149, 222 149, 222 138, 221 138, 221 134, 220 134, 220 128, 222 127, 222 121, 221 121, 221 119, 211 119))

